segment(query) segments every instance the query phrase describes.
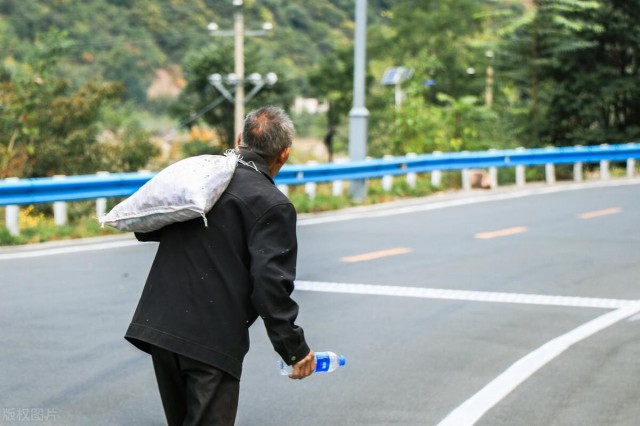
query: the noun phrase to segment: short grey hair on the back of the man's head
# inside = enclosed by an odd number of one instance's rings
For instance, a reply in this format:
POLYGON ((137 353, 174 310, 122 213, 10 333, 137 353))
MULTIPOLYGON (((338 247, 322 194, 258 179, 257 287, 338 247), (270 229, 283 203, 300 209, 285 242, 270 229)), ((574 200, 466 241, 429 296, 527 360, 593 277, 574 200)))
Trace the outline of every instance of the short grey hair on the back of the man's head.
POLYGON ((284 110, 267 106, 251 111, 244 120, 241 148, 271 161, 293 143, 295 128, 284 110))

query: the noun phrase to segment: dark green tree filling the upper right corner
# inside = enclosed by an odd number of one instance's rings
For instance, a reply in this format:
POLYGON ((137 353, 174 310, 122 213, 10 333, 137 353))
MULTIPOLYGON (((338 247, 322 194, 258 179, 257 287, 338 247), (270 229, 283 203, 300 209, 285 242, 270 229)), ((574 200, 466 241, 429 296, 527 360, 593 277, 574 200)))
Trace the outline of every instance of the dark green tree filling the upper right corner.
POLYGON ((545 69, 553 87, 549 139, 557 145, 635 141, 640 136, 640 3, 574 3, 556 5, 554 28, 565 36, 553 40, 545 69))

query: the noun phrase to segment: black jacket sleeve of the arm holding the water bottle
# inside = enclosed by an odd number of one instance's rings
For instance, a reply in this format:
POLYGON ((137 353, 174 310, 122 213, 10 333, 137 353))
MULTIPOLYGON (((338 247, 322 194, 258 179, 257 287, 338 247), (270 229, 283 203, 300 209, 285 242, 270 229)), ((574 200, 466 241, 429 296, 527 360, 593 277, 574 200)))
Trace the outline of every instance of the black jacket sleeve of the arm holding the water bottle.
POLYGON ((295 209, 291 204, 272 207, 249 236, 252 302, 273 348, 289 365, 310 352, 304 331, 295 324, 298 304, 291 298, 297 251, 295 209))

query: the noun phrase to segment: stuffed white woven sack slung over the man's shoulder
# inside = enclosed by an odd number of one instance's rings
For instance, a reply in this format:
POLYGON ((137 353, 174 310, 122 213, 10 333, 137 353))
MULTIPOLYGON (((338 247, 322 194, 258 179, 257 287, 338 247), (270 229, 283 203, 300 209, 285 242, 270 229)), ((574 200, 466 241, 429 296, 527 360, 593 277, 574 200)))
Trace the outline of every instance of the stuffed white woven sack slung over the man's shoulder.
POLYGON ((236 169, 238 156, 199 155, 160 171, 133 195, 99 218, 102 226, 122 231, 150 232, 175 222, 202 216, 218 201, 236 169))

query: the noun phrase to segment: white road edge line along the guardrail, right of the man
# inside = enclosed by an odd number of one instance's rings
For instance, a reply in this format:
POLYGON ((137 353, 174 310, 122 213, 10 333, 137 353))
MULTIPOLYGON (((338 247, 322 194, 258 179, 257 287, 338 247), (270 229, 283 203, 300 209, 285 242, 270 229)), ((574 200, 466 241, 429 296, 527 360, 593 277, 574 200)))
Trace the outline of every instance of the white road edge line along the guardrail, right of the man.
POLYGON ((570 184, 568 186, 555 185, 537 189, 525 189, 522 191, 509 192, 505 194, 488 194, 481 196, 474 196, 468 198, 462 198, 457 200, 447 201, 435 201, 428 202, 426 204, 402 206, 402 207, 390 207, 380 209, 380 206, 372 207, 368 210, 361 210, 353 212, 336 212, 326 215, 320 215, 315 217, 300 217, 298 219, 298 226, 318 225, 323 223, 343 222, 347 220, 387 217, 398 214, 418 213, 430 210, 444 209, 448 207, 468 206, 471 204, 486 203, 491 201, 512 200, 515 198, 529 197, 532 195, 544 195, 555 194, 565 191, 578 191, 582 189, 594 189, 594 188, 609 188, 617 186, 638 185, 639 179, 630 179, 624 181, 605 181, 605 182, 585 182, 578 184, 570 184))

